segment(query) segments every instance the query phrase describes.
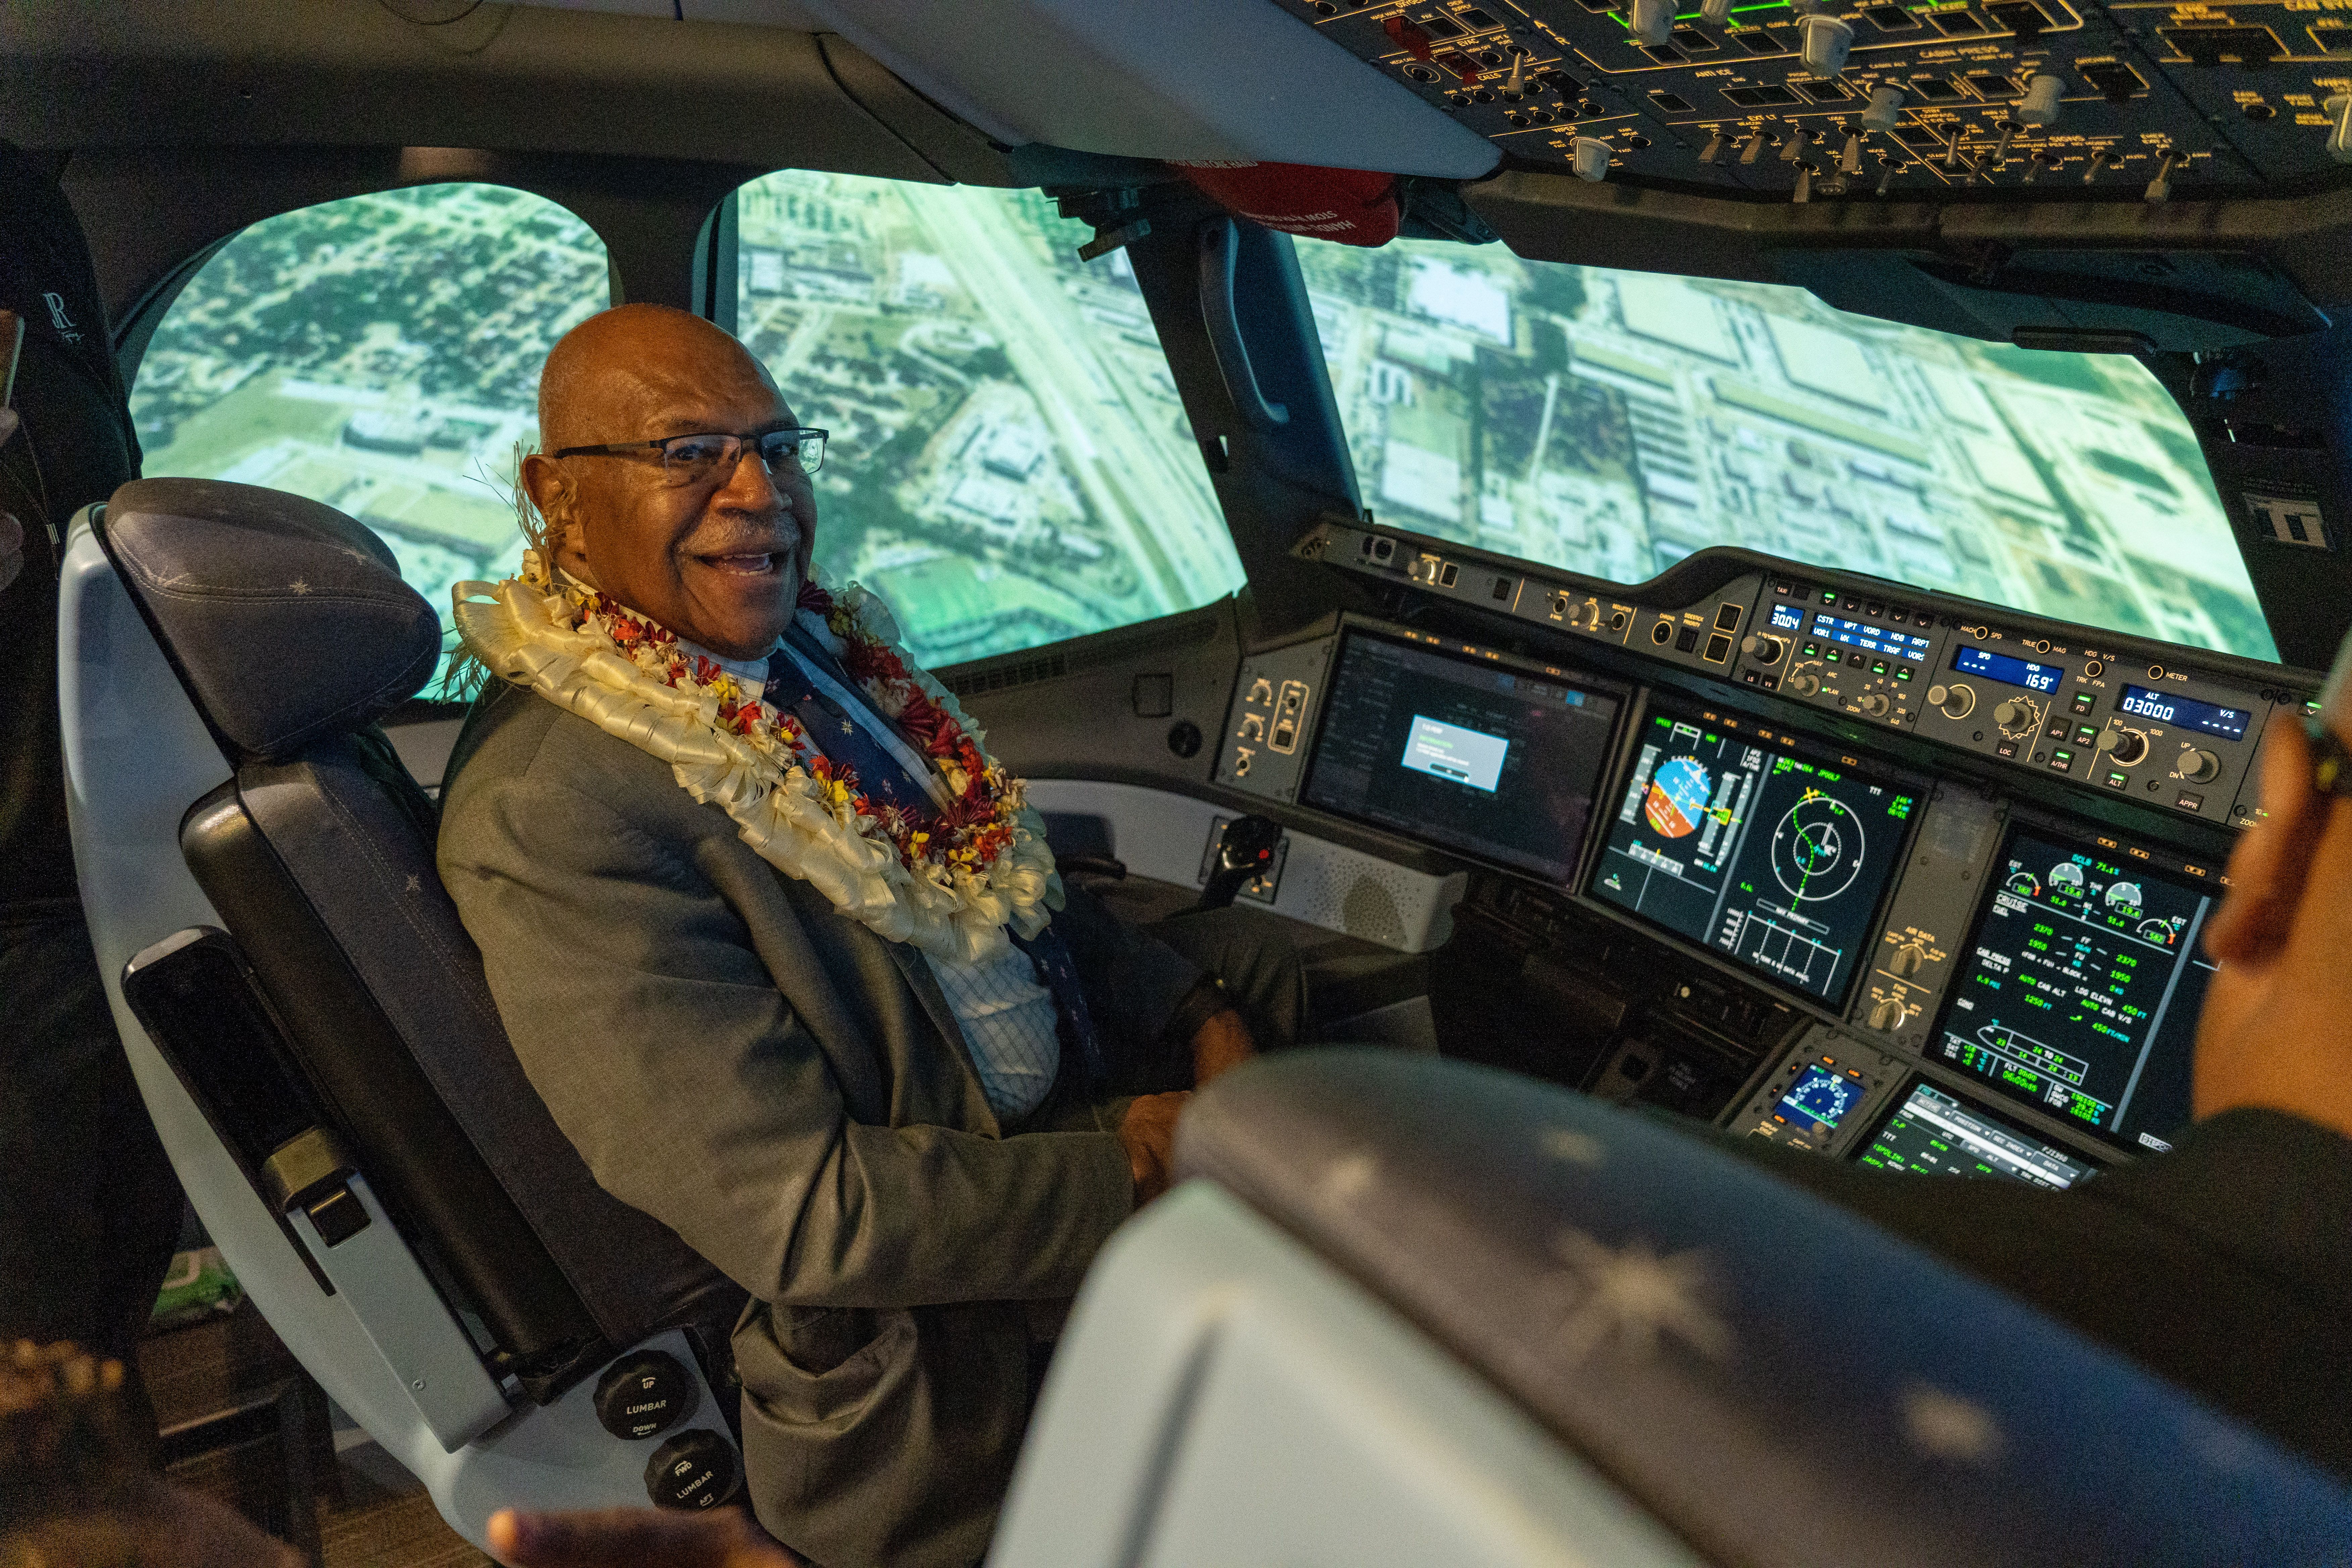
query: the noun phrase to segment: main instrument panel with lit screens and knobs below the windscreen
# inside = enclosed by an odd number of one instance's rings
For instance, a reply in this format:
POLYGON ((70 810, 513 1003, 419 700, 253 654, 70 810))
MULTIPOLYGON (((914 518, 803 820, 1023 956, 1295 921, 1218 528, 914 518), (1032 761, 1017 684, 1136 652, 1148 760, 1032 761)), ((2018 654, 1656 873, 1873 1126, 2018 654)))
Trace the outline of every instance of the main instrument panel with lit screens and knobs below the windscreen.
POLYGON ((1251 656, 1218 783, 1472 867, 1444 1051, 2051 1187, 2187 1124, 2291 672, 1731 552, 1646 590, 1686 604, 1374 527, 1301 555, 1399 618, 1251 656))

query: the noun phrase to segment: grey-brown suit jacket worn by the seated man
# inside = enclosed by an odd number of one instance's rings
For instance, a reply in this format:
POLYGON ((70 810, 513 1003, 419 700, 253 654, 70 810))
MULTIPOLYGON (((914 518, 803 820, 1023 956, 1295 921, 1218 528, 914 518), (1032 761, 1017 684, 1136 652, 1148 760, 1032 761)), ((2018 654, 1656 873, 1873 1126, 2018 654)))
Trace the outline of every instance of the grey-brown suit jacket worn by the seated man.
MULTIPOLYGON (((913 947, 529 691, 468 717, 440 872, 588 1168, 753 1295, 734 1349, 762 1523, 826 1568, 974 1563, 1035 1305, 1131 1206, 1120 1105, 1058 1095, 1007 1133, 913 947)), ((1065 924, 1105 1032, 1152 1039, 1200 971, 1098 905, 1065 924)))

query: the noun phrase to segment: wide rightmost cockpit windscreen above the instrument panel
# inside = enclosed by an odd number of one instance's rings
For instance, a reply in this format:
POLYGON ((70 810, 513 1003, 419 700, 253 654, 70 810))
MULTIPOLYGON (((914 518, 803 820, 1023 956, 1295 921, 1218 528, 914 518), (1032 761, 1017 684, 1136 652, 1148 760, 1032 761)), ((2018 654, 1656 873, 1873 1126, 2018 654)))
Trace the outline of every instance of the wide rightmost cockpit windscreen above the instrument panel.
POLYGON ((1745 545, 2277 658, 2197 437, 2129 355, 1501 244, 1298 261, 1397 527, 1618 583, 1745 545))

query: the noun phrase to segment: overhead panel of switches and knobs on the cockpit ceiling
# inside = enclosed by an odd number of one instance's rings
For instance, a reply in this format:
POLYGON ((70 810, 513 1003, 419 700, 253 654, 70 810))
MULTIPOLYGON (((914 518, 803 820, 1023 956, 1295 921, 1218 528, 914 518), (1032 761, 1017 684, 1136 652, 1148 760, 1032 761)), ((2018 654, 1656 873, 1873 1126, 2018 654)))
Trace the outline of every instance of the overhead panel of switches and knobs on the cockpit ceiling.
POLYGON ((1268 0, 1529 165, 1759 200, 2352 179, 2319 0, 1268 0))

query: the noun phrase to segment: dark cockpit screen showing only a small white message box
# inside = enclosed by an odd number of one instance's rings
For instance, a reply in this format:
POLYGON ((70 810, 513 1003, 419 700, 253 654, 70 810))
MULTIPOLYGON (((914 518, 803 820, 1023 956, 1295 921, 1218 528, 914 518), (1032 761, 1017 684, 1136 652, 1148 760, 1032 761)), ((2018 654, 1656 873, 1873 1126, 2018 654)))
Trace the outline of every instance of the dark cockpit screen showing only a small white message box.
POLYGON ((1305 804, 1566 882, 1618 708, 1609 691, 1352 630, 1305 804))

